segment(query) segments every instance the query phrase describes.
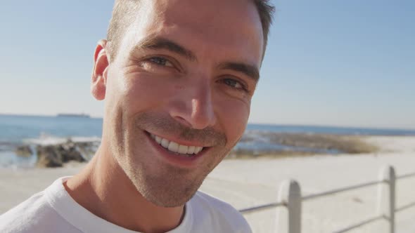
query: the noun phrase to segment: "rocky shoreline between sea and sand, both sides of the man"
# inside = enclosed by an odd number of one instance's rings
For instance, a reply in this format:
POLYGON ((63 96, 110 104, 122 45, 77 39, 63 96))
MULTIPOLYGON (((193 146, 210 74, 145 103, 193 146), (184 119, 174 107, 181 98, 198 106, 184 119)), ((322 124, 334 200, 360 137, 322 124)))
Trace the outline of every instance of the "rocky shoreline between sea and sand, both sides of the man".
MULTIPOLYGON (((225 159, 280 159, 316 155, 377 154, 382 151, 381 147, 383 147, 383 144, 377 143, 376 138, 410 139, 415 138, 415 136, 270 133, 258 131, 243 135, 241 141, 238 142, 238 145, 231 150, 225 159)), ((16 147, 14 152, 0 151, 0 168, 61 167, 72 159, 77 161, 86 160, 87 162, 94 156, 99 143, 100 139, 96 137, 73 137, 69 139, 46 137, 26 140, 25 146, 16 147), (74 150, 76 150, 77 154, 74 154, 74 150), (47 161, 45 161, 45 157, 47 161), (3 166, 1 166, 1 159, 3 159, 3 166), (5 159, 8 159, 8 161, 4 162, 5 159), (49 161, 53 161, 53 163, 49 161)))

